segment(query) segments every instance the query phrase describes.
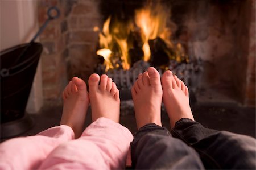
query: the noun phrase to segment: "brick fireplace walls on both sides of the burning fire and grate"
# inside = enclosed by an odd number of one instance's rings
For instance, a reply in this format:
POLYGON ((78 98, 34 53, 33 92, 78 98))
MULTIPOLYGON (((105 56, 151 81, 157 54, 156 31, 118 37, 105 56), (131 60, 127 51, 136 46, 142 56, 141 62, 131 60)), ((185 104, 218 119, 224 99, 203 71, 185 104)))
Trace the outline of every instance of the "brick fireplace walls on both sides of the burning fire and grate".
MULTIPOLYGON (((98 66, 104 60, 96 54, 98 49, 103 48, 99 42, 99 32, 104 31, 104 23, 110 15, 127 21, 133 18, 136 10, 143 9, 145 3, 156 5, 156 2, 159 1, 40 0, 40 22, 44 21, 44 14, 49 6, 56 5, 62 11, 61 18, 51 23, 40 37, 40 42, 44 45, 44 99, 59 99, 61 90, 73 76, 88 81, 90 74, 100 72, 98 66)), ((187 85, 193 80, 191 89, 195 91, 197 101, 235 102, 255 107, 255 1, 161 3, 167 8, 165 28, 171 31, 172 43, 176 45, 173 49, 181 47, 182 50, 177 53, 187 56, 183 61, 193 61, 190 65, 189 62, 184 62, 185 68, 200 71, 196 75, 190 71, 187 73, 189 76, 183 77, 192 77, 187 80, 187 85)), ((157 39, 159 37, 151 40, 161 43, 162 38, 157 39)), ((141 57, 145 55, 140 49, 130 53, 141 57)), ((170 69, 170 63, 174 62, 176 60, 168 61, 169 64, 164 65, 163 62, 157 64, 156 61, 151 65, 159 67, 163 72, 164 69, 170 69)), ((115 67, 118 74, 123 75, 122 80, 127 74, 135 75, 131 71, 127 73, 127 66, 118 69, 117 64, 115 63, 115 67)), ((140 64, 142 62, 137 65, 140 64)), ((101 71, 105 69, 104 65, 101 71)), ((109 71, 110 77, 113 74, 117 73, 109 71)), ((182 76, 184 72, 177 74, 182 76)), ((134 77, 126 79, 134 81, 134 77)), ((124 82, 127 83, 127 80, 124 82)))

